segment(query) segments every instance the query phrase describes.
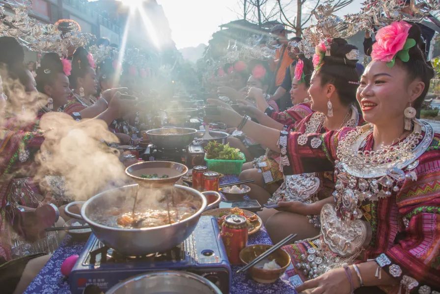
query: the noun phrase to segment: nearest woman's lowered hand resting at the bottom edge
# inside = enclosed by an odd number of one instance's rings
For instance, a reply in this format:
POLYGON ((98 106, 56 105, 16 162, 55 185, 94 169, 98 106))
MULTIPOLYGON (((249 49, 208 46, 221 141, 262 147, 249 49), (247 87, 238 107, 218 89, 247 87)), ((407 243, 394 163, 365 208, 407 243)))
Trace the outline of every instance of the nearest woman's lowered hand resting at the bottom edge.
MULTIPOLYGON (((357 289, 358 277, 350 271, 352 280, 357 289)), ((316 279, 308 280, 295 290, 300 293, 307 289, 313 289, 310 294, 349 294, 351 291, 350 281, 343 268, 330 270, 316 279)))

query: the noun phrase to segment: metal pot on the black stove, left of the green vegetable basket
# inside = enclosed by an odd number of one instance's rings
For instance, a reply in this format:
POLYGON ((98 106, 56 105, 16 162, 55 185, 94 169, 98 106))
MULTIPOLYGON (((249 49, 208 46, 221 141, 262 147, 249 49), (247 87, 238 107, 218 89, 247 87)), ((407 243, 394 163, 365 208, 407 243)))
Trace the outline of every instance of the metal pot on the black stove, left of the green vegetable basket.
POLYGON ((183 148, 191 144, 197 130, 192 128, 160 128, 147 131, 150 142, 160 148, 183 148))

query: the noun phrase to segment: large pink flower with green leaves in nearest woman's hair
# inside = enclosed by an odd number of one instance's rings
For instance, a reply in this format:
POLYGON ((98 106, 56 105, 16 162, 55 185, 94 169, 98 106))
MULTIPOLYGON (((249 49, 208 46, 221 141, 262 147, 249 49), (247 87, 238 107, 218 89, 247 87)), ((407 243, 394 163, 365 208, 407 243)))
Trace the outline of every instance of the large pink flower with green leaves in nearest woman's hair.
POLYGON ((411 26, 398 21, 378 30, 371 59, 384 61, 388 67, 394 66, 396 57, 403 62, 410 60, 409 50, 416 45, 414 39, 408 38, 411 26))

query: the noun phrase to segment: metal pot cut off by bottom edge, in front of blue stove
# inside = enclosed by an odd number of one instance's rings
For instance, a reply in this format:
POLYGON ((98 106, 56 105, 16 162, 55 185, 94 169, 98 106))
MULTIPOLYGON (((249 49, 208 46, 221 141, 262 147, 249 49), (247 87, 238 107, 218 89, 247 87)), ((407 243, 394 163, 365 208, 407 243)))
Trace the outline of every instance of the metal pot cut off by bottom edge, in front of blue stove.
POLYGON ((219 288, 199 275, 186 271, 144 273, 114 285, 106 294, 221 294, 219 288))

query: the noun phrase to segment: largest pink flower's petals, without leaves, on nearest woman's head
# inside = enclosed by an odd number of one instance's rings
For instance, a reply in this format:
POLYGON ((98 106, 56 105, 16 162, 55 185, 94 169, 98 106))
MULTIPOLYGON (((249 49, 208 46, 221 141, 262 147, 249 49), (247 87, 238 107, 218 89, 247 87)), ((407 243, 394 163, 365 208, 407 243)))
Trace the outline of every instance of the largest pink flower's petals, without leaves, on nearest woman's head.
POLYGON ((410 28, 411 25, 407 22, 398 21, 378 30, 371 58, 373 60, 390 62, 397 52, 405 46, 410 28))

